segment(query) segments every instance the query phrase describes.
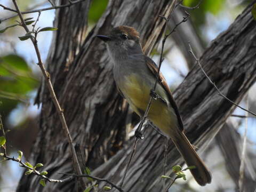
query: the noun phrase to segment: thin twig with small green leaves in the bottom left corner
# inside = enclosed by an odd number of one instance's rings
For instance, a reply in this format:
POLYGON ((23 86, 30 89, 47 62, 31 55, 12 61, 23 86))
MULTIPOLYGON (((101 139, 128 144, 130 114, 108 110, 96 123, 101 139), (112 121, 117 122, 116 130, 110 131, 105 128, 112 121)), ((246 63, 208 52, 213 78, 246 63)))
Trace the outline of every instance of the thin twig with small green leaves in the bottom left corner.
POLYGON ((59 180, 59 179, 50 179, 48 177, 46 177, 45 175, 41 175, 39 171, 27 166, 25 163, 21 162, 19 159, 17 158, 14 158, 14 157, 10 157, 10 156, 7 156, 6 154, 4 154, 3 156, 1 157, 4 157, 5 158, 5 161, 14 161, 14 162, 18 162, 20 163, 20 166, 21 167, 25 167, 26 169, 29 169, 29 170, 33 170, 33 174, 37 175, 38 177, 41 177, 49 182, 55 182, 55 183, 62 183, 62 182, 67 182, 67 181, 70 181, 72 179, 74 179, 74 177, 68 177, 66 179, 62 179, 62 180, 59 180))

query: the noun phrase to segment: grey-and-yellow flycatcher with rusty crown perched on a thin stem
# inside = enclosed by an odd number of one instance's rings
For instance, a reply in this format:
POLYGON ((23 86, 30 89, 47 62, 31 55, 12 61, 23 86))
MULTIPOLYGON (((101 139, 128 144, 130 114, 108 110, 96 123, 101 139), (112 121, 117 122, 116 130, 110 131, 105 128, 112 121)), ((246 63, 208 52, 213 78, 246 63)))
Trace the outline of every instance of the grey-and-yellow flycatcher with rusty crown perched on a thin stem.
MULTIPOLYGON (((157 65, 143 53, 139 33, 132 27, 119 26, 108 36, 97 37, 107 44, 109 56, 114 62, 113 73, 118 91, 142 117, 156 81, 157 65)), ((156 93, 160 98, 153 101, 147 118, 171 138, 188 166, 196 166, 190 172, 197 183, 201 186, 210 183, 211 173, 183 133, 178 107, 161 73, 156 93)))

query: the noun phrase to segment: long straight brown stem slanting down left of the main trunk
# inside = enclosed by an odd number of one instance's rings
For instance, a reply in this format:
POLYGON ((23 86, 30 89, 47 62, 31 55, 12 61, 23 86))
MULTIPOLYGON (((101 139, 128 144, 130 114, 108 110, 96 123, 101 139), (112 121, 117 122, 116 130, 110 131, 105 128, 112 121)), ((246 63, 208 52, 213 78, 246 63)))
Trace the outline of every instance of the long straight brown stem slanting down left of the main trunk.
MULTIPOLYGON (((19 10, 19 7, 17 5, 16 0, 12 0, 12 1, 13 1, 14 6, 15 6, 15 9, 18 12, 19 18, 21 20, 22 27, 26 30, 27 33, 29 33, 30 31, 29 31, 28 27, 25 24, 25 21, 24 21, 22 15, 21 15, 21 12, 19 10)), ((71 149, 71 154, 72 154, 72 157, 73 157, 73 162, 74 162, 73 166, 74 166, 75 173, 82 174, 81 167, 79 166, 79 163, 78 163, 78 158, 77 158, 77 155, 76 155, 75 147, 73 145, 73 139, 71 138, 71 135, 69 133, 68 126, 67 126, 67 123, 66 123, 66 119, 65 119, 63 110, 61 109, 59 101, 58 101, 58 99, 57 99, 57 97, 55 95, 55 92, 53 90, 50 74, 46 71, 46 69, 45 69, 45 67, 43 65, 43 62, 42 62, 42 59, 41 59, 41 55, 39 53, 39 49, 38 49, 38 46, 37 46, 36 39, 33 36, 30 36, 30 40, 31 40, 31 42, 34 45, 34 48, 35 48, 35 51, 36 51, 36 55, 37 55, 37 59, 38 59, 38 66, 40 67, 40 69, 41 69, 41 71, 43 73, 43 76, 45 78, 47 87, 48 87, 48 89, 50 91, 50 94, 51 94, 52 101, 54 103, 55 108, 58 111, 58 115, 59 115, 59 118, 60 118, 60 121, 61 121, 62 128, 65 131, 66 137, 68 138, 68 142, 69 142, 70 149, 71 149)))

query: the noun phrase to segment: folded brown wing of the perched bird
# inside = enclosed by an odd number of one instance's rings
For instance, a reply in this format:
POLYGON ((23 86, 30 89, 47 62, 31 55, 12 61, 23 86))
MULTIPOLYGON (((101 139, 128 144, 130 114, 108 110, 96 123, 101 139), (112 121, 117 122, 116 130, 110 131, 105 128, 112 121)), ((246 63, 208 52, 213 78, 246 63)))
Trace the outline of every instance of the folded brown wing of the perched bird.
MULTIPOLYGON (((157 75, 157 65, 156 65, 156 63, 147 56, 145 56, 145 58, 146 58, 146 63, 147 63, 148 68, 153 73, 153 75, 156 77, 156 75, 157 75)), ((167 92, 167 95, 169 97, 169 102, 170 102, 172 108, 174 109, 175 114, 178 118, 178 122, 179 122, 179 125, 180 125, 180 130, 183 131, 183 123, 182 123, 182 119, 181 119, 181 116, 180 116, 180 113, 179 113, 178 106, 175 103, 175 100, 172 97, 171 90, 169 89, 169 86, 167 85, 166 80, 165 80, 165 78, 164 78, 164 76, 161 72, 159 73, 158 82, 164 87, 164 90, 167 92)))

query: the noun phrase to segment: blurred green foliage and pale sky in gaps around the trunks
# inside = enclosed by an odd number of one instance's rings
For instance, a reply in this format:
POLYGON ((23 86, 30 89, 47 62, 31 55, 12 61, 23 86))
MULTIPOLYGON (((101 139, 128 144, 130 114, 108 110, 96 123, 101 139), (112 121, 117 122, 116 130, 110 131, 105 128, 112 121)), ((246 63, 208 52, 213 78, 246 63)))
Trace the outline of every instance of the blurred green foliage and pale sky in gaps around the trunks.
MULTIPOLYGON (((44 0, 18 0, 17 2, 22 11, 51 6, 48 1, 44 0)), ((193 7, 198 2, 198 0, 184 0, 183 5, 193 7)), ((243 0, 203 0, 198 9, 187 11, 191 14, 191 21, 200 41, 207 46, 221 31, 228 28, 249 2, 243 0)), ((92 1, 89 12, 90 28, 93 28, 99 20, 106 9, 107 3, 107 0, 92 1)), ((9 0, 1 0, 0 4, 13 8, 12 1, 9 0)), ((1 20, 13 15, 12 12, 3 10, 2 7, 0 7, 0 10, 1 20)), ((36 19, 37 15, 37 13, 26 14, 25 18, 34 17, 36 19)), ((52 26, 53 19, 54 10, 44 11, 39 18, 37 26, 52 26)), ((14 17, 1 22, 0 30, 14 25, 16 23, 15 20, 18 20, 18 18, 14 17)), ((52 33, 52 31, 48 31, 38 35, 37 40, 43 62, 47 58, 52 33)), ((0 33, 0 114, 2 115, 5 130, 10 130, 7 133, 8 153, 16 155, 17 150, 22 150, 25 154, 25 159, 23 160, 26 161, 38 131, 37 117, 40 113, 40 107, 37 108, 33 104, 39 83, 42 81, 42 75, 36 65, 37 59, 30 41, 21 42, 18 39, 18 36, 23 36, 24 34, 25 31, 19 26, 0 33)), ((167 59, 164 62, 162 71, 169 84, 172 85, 172 89, 175 89, 182 82, 189 69, 186 58, 184 58, 179 47, 175 45, 171 38, 168 39, 166 50, 165 57, 167 59)), ((157 52, 158 49, 155 49, 153 59, 156 61, 158 60, 157 52)), ((249 96, 249 98, 253 103, 254 97, 249 96)), ((236 112, 244 114, 238 110, 236 112)), ((243 125, 241 121, 239 119, 237 125, 243 125)), ((249 133, 251 141, 254 142, 255 133, 250 131, 249 133)), ((13 162, 1 163, 0 168, 4 170, 0 173, 0 191, 14 191, 22 174, 22 169, 13 162), (4 177, 3 172, 5 172, 4 177)))

